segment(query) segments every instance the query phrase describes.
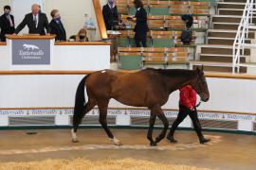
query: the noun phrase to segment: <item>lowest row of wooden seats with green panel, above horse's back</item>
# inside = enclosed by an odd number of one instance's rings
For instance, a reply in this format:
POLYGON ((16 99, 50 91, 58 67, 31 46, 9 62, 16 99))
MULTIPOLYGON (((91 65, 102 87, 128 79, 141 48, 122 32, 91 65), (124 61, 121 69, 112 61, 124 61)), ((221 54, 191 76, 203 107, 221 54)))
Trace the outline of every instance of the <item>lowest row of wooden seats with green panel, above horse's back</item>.
POLYGON ((184 47, 119 47, 119 67, 139 69, 143 64, 185 64, 188 56, 188 48, 184 47))

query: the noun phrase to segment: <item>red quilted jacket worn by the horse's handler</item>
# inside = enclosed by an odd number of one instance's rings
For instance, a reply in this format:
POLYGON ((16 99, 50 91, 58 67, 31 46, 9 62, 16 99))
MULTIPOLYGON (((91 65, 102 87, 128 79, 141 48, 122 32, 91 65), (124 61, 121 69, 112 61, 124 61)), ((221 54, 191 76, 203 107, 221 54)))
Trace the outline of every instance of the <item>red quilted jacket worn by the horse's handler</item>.
POLYGON ((196 92, 191 85, 179 89, 179 104, 192 110, 196 104, 196 92))

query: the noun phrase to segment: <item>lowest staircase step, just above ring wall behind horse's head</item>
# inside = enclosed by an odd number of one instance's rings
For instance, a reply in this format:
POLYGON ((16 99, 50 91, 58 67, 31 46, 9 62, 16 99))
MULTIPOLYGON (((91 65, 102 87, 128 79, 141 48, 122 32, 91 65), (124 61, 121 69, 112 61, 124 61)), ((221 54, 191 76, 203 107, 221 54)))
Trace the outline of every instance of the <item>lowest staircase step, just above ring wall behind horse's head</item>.
MULTIPOLYGON (((192 68, 200 67, 204 65, 206 72, 219 72, 219 73, 231 73, 232 63, 223 62, 209 62, 209 61, 192 61, 192 68)), ((247 73, 247 67, 240 67, 240 73, 247 73)))

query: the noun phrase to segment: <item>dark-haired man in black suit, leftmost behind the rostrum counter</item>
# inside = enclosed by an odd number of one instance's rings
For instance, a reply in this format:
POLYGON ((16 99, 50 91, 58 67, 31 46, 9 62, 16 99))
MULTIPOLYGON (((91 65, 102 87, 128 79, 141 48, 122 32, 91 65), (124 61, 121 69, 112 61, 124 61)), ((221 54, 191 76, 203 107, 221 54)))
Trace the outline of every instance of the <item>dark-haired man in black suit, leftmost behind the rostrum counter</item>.
POLYGON ((9 14, 10 7, 4 7, 4 14, 0 16, 0 41, 6 42, 6 34, 13 34, 15 27, 14 27, 14 17, 9 14))

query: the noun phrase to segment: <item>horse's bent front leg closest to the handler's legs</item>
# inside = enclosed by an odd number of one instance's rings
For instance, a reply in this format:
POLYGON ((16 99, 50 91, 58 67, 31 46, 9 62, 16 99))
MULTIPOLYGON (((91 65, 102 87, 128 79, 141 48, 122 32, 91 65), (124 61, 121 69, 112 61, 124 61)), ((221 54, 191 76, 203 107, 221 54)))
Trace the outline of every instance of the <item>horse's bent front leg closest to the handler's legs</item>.
POLYGON ((155 107, 153 110, 153 112, 155 112, 156 116, 162 121, 163 123, 163 129, 161 131, 161 133, 155 138, 155 144, 159 143, 166 135, 166 132, 168 130, 169 127, 169 122, 168 119, 166 118, 166 116, 164 115, 164 112, 161 110, 160 107, 155 107))

